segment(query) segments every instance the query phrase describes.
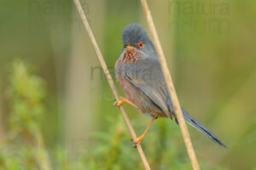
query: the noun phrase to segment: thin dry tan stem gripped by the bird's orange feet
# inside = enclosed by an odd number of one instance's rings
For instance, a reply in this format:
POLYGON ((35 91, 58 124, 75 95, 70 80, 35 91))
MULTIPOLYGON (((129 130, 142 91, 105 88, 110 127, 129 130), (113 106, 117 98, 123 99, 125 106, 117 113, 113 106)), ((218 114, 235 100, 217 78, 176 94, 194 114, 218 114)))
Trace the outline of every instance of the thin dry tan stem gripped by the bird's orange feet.
MULTIPOLYGON (((110 88, 112 89, 112 92, 113 92, 113 95, 114 95, 114 98, 119 101, 119 94, 114 86, 114 83, 113 83, 113 79, 108 71, 108 67, 106 65, 106 62, 105 60, 103 59, 103 56, 102 56, 102 53, 100 51, 100 48, 98 47, 97 45, 97 42, 96 42, 96 39, 90 29, 90 25, 88 23, 88 20, 86 19, 86 16, 84 14, 84 11, 83 11, 83 8, 81 7, 81 4, 79 3, 79 0, 73 0, 73 2, 75 3, 76 7, 78 8, 78 11, 79 11, 79 15, 81 17, 81 19, 83 20, 83 23, 84 23, 84 27, 85 27, 85 30, 87 31, 89 37, 90 37, 90 41, 92 42, 92 45, 93 47, 95 48, 96 50, 96 54, 97 54, 97 57, 102 65, 102 69, 107 77, 107 80, 108 80, 108 83, 109 83, 109 86, 110 88)), ((125 109, 124 107, 121 105, 120 106, 120 111, 125 119, 125 123, 131 133, 131 137, 133 139, 133 141, 136 141, 137 139, 137 135, 133 129, 133 127, 131 126, 131 122, 129 120, 129 117, 127 116, 126 112, 125 112, 125 109)), ((146 156, 144 155, 144 152, 143 152, 143 149, 142 149, 142 146, 140 144, 137 144, 137 151, 143 161, 143 166, 145 167, 146 170, 150 170, 150 167, 149 167, 149 164, 148 164, 148 160, 146 158, 146 156)))

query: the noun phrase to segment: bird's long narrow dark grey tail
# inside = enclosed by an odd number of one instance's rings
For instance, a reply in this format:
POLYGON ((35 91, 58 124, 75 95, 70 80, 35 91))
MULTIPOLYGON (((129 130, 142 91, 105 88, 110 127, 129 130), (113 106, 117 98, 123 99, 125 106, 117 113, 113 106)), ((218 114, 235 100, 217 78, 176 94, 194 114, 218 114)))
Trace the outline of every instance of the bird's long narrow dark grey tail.
MULTIPOLYGON (((205 135, 207 135, 207 137, 212 139, 213 142, 216 142, 217 144, 223 146, 224 148, 227 148, 227 146, 220 139, 218 139, 209 129, 207 129, 207 127, 203 126, 200 122, 196 121, 192 116, 189 116, 187 111, 185 111, 183 108, 182 108, 182 111, 183 111, 183 117, 186 122, 188 122, 190 125, 195 127, 201 133, 204 133, 205 135)), ((176 122, 177 122, 177 119, 176 119, 176 122)))

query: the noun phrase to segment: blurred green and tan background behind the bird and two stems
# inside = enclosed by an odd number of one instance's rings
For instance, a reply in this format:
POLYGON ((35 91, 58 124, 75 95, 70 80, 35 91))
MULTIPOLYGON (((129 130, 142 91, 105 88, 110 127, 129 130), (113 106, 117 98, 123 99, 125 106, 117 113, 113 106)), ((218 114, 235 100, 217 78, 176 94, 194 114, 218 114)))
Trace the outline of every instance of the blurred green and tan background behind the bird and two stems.
MULTIPOLYGON (((124 27, 148 31, 141 4, 81 3, 114 77, 124 27)), ((256 3, 148 5, 180 103, 229 147, 189 127, 201 169, 256 169, 256 3)), ((143 169, 73 1, 1 0, 0 20, 0 169, 143 169)), ((125 109, 143 133, 150 120, 125 109)), ((142 145, 152 169, 191 169, 168 119, 142 145)))

